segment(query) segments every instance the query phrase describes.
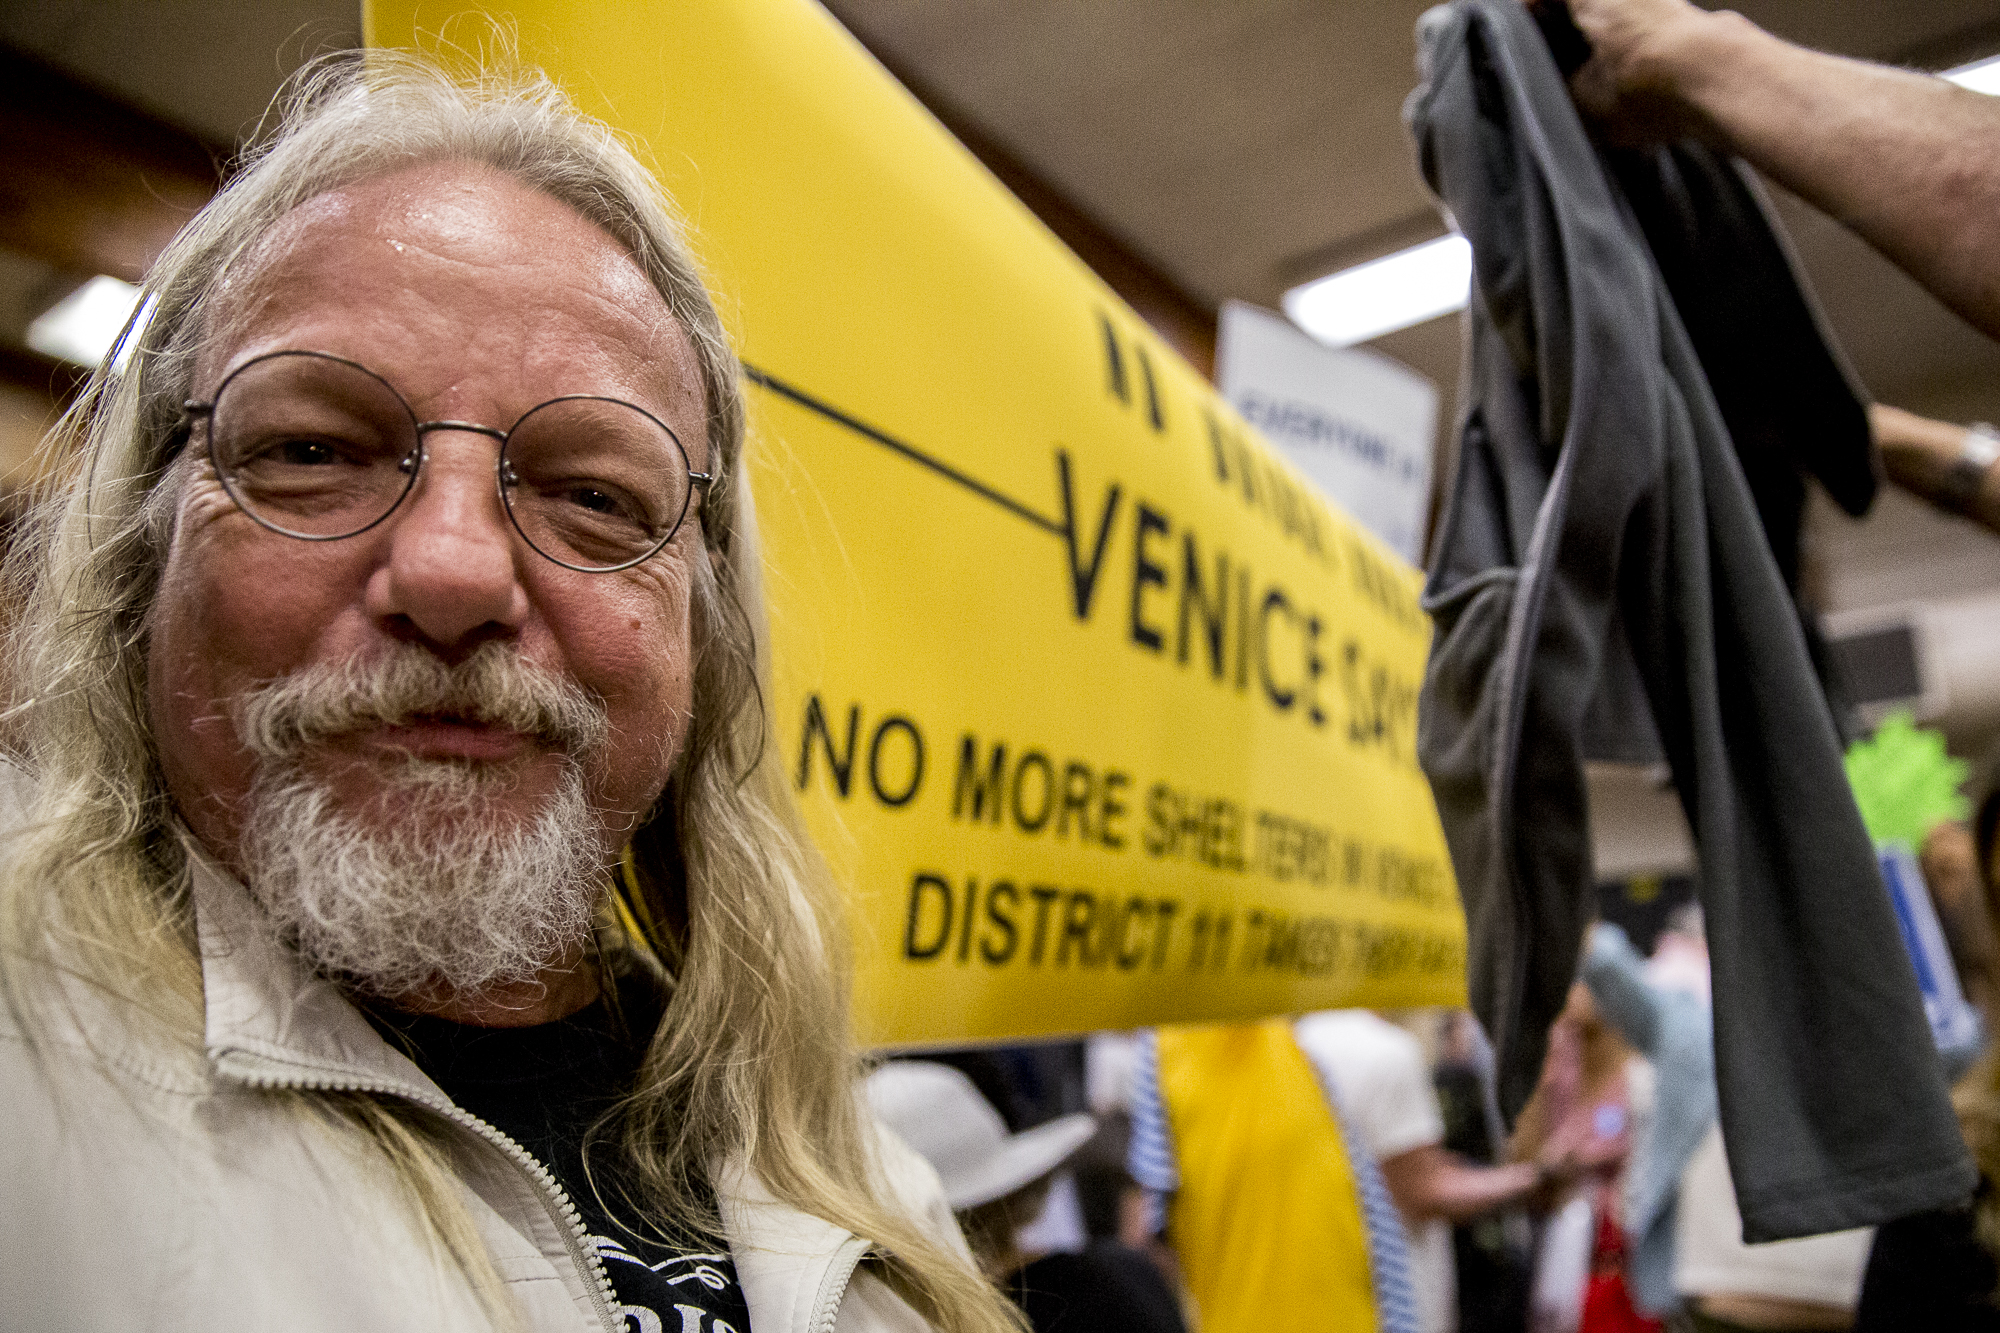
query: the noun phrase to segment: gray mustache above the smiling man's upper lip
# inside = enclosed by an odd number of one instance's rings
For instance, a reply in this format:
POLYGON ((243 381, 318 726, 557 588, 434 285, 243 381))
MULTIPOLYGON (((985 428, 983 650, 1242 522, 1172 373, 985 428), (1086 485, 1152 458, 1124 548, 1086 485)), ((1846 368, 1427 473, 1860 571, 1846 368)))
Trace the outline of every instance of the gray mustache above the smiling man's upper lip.
POLYGON ((486 642, 458 664, 416 644, 364 660, 314 662, 248 691, 232 711, 252 755, 290 761, 320 741, 366 727, 400 727, 424 717, 518 731, 586 759, 610 739, 604 705, 572 681, 486 642))

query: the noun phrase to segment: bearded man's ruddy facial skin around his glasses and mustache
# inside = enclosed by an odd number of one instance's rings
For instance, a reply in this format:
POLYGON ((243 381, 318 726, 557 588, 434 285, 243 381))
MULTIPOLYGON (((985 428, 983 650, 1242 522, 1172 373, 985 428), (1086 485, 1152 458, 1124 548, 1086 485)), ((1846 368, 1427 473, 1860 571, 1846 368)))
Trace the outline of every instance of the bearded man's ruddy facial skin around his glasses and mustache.
MULTIPOLYGON (((708 462, 692 346, 638 264, 566 204, 482 166, 414 166, 306 202, 238 268, 212 332, 194 376, 200 400, 252 356, 316 350, 384 376, 420 420, 508 428, 548 398, 604 394, 672 426, 694 470, 708 462)), ((258 777, 236 729, 244 695, 398 644, 446 664, 498 644, 602 707, 608 743, 582 781, 606 857, 666 785, 690 705, 700 500, 650 560, 578 572, 510 526, 494 486, 498 440, 436 430, 426 454, 396 512, 342 540, 258 526, 206 458, 178 496, 150 636, 152 725, 176 807, 238 871, 258 777)), ((414 817, 382 799, 384 777, 412 757, 504 773, 460 815, 496 831, 544 813, 584 759, 492 723, 426 715, 316 741, 300 767, 336 815, 398 833, 414 817)))

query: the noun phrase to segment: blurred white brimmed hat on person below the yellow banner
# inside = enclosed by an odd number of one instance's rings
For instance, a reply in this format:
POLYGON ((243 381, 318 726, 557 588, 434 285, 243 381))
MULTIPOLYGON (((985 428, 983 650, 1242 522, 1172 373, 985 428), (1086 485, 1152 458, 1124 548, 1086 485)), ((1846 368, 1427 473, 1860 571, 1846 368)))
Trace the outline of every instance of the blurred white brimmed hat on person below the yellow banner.
POLYGON ((1098 1131, 1094 1117, 1076 1113, 1010 1135, 972 1079, 932 1061, 892 1061, 868 1075, 868 1105, 938 1169, 954 1213, 1042 1179, 1098 1131))

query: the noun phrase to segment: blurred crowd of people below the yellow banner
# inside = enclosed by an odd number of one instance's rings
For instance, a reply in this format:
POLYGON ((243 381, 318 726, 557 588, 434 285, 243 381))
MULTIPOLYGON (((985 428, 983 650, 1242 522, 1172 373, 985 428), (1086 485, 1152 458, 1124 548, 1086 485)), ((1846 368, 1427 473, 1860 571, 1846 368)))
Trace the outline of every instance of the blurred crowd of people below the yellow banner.
MULTIPOLYGON (((1992 865, 2000 791, 1980 809, 1992 865)), ((1932 845, 1966 833, 1940 823, 1932 845)), ((1934 879, 1970 983, 1994 949, 1990 873, 1976 907, 1948 895, 1934 879)), ((1972 1211, 1744 1243, 1700 907, 1682 901, 1644 943, 1592 929, 1512 1131, 1462 1009, 898 1059, 870 1099, 940 1171, 982 1267, 1036 1333, 1280 1313, 1398 1333, 2000 1327, 2000 1267, 1972 1211), (1346 1169, 1316 1167, 1330 1159, 1346 1169)), ((1994 1031, 1984 1001, 1982 1019, 1994 1031)), ((2000 1133, 1994 1069, 1960 1083, 1982 1161, 2000 1133)))

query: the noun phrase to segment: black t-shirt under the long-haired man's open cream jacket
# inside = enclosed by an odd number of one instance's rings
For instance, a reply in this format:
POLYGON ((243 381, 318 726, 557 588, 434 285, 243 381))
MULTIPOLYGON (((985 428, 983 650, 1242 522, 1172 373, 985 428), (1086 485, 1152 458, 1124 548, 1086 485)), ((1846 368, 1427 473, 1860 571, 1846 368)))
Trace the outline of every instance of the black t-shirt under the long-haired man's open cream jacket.
POLYGON ((618 987, 616 1007, 598 1001, 536 1027, 466 1027, 428 1015, 370 1015, 382 1035, 430 1075, 462 1109, 534 1153, 582 1213, 604 1259, 630 1333, 750 1333, 736 1263, 720 1237, 672 1243, 622 1225, 604 1207, 622 1203, 626 1169, 616 1131, 584 1137, 638 1073, 644 1037, 660 1003, 642 979, 618 987))

